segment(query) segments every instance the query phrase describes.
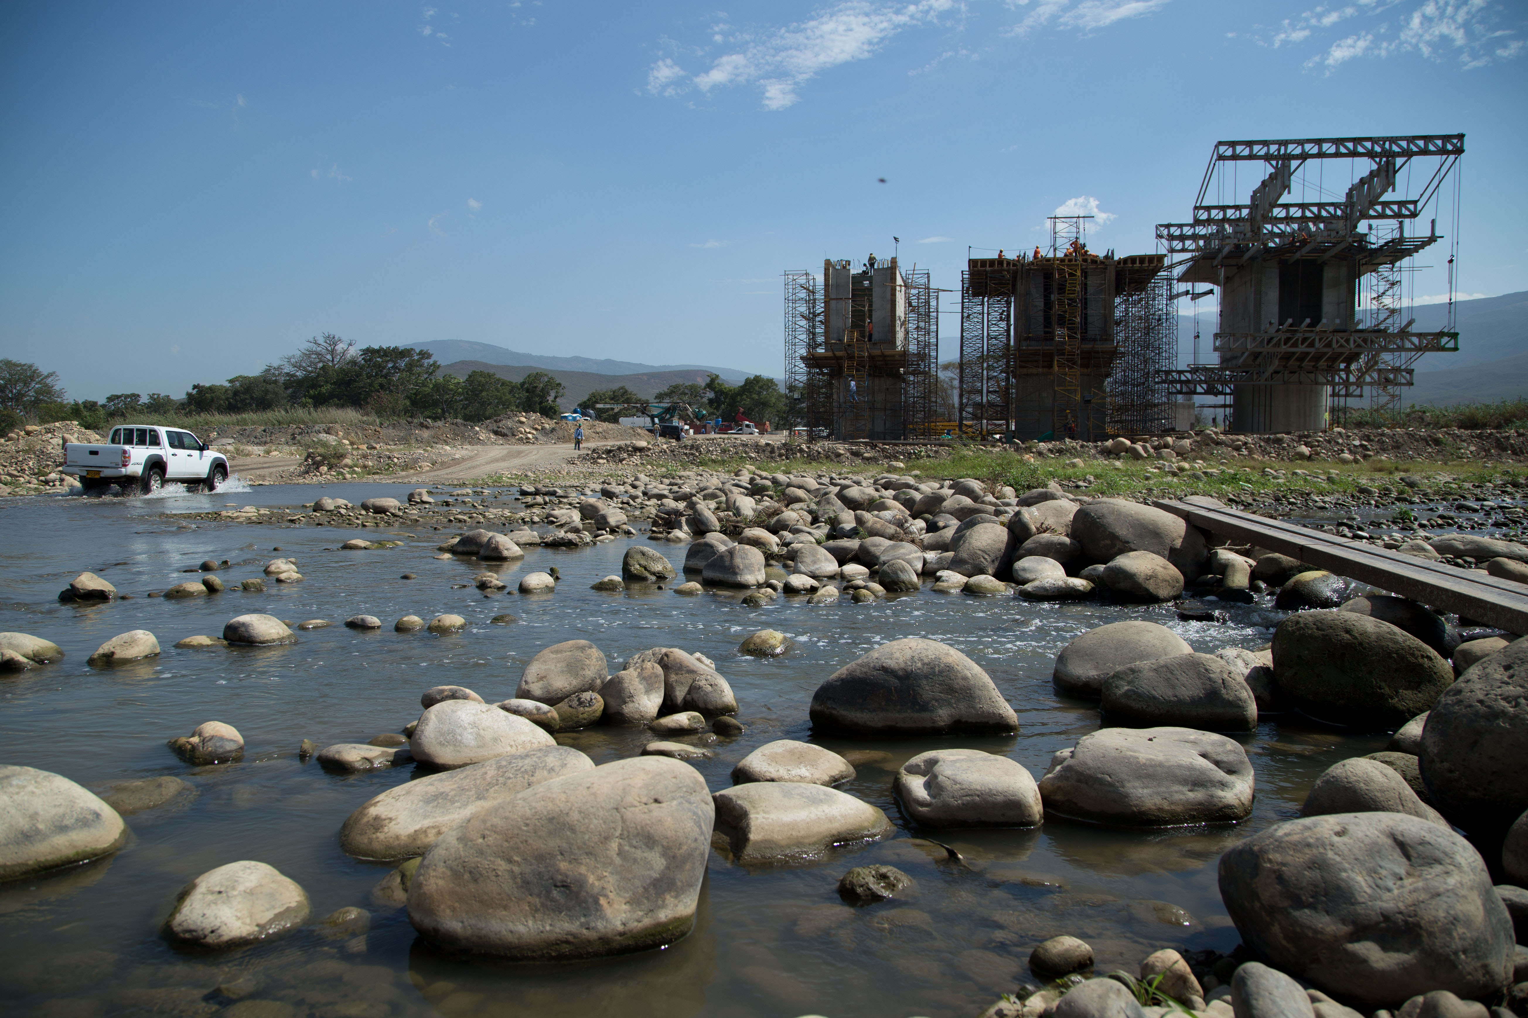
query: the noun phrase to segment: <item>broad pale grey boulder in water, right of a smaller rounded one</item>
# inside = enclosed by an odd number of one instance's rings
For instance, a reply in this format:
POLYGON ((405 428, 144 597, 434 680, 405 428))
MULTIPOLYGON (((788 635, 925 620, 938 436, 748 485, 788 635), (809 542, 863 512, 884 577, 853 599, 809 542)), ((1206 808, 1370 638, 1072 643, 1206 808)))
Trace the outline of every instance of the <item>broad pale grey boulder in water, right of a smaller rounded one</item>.
POLYGON ((1045 810, 1094 823, 1169 827, 1244 820, 1253 772, 1239 743, 1190 728, 1105 728, 1051 757, 1045 810))

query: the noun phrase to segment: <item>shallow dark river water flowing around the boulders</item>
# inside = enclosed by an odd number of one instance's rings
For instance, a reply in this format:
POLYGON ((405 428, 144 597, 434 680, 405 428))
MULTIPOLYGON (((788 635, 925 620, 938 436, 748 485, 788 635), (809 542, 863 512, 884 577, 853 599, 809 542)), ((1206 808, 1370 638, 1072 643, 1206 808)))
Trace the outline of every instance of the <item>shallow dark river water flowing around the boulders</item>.
MULTIPOLYGON (((397 485, 329 485, 348 498, 396 495, 397 485)), ((437 560, 443 533, 420 531, 400 548, 335 551, 353 531, 235 523, 177 523, 163 513, 206 511, 228 502, 295 507, 313 487, 263 487, 211 496, 142 499, 35 498, 0 502, 0 629, 55 641, 63 662, 0 679, 0 762, 63 774, 87 788, 173 774, 194 786, 183 801, 128 818, 131 839, 116 856, 37 879, 0 884, 0 1000, 9 1013, 209 1015, 232 1006, 241 1018, 440 1013, 448 1018, 721 1015, 831 1018, 978 1013, 1030 978, 1027 957, 1041 940, 1088 940, 1099 971, 1134 971, 1161 946, 1229 951, 1239 940, 1216 890, 1219 853, 1239 838, 1296 815, 1328 766, 1383 748, 1386 736, 1352 736, 1293 717, 1239 737, 1256 769, 1256 807, 1241 824, 1118 830, 1050 820, 1033 832, 946 830, 966 864, 918 839, 891 794, 897 768, 941 746, 1002 752, 1039 778, 1054 751, 1099 728, 1097 708, 1051 690, 1056 652, 1077 633, 1123 618, 1158 621, 1195 650, 1259 647, 1282 614, 1268 604, 1227 606, 1229 624, 1181 623, 1170 606, 1033 604, 1018 598, 941 595, 924 588, 883 601, 808 606, 778 598, 750 609, 735 595, 678 597, 672 591, 601 594, 588 586, 620 571, 630 542, 588 549, 532 548, 515 574, 559 566, 552 595, 484 597, 466 586, 483 569, 437 560), (280 548, 280 552, 275 551, 280 548), (203 559, 229 559, 219 575, 260 575, 277 556, 299 560, 306 580, 182 601, 142 597, 183 578, 203 559), (60 589, 83 569, 108 578, 131 600, 61 604, 60 589), (403 572, 417 578, 402 580, 403 572), (246 612, 336 624, 269 649, 179 650, 196 633, 220 635, 246 612), (469 621, 451 636, 394 633, 405 614, 455 612, 469 621), (515 624, 489 624, 512 612, 515 624), (348 630, 354 614, 385 629, 348 630), (795 650, 776 659, 736 653, 756 629, 779 629, 795 650), (102 641, 148 629, 159 658, 95 670, 86 658, 102 641), (814 736, 813 690, 865 650, 902 636, 958 647, 992 675, 1019 716, 1008 737, 851 742, 814 736), (897 824, 877 844, 840 849, 810 862, 743 867, 714 853, 694 933, 663 951, 559 966, 461 963, 420 942, 403 910, 379 905, 371 888, 388 868, 339 850, 341 823, 361 803, 413 777, 411 768, 342 777, 298 759, 298 743, 365 742, 419 716, 419 694, 466 685, 494 702, 513 696, 523 665, 542 647, 584 638, 617 662, 654 646, 701 652, 732 684, 736 740, 697 762, 709 786, 730 784, 732 766, 775 739, 831 749, 889 754, 859 768, 843 791, 886 810, 897 824), (165 746, 205 720, 234 725, 243 762, 183 765, 165 746), (258 859, 298 881, 313 916, 345 905, 371 911, 361 939, 325 940, 309 926, 237 954, 196 954, 159 937, 176 893, 199 873, 258 859), (915 890, 868 908, 836 893, 854 865, 889 862, 915 890), (234 1004, 235 987, 254 1001, 234 1004)), ((368 536, 373 531, 368 531, 368 536)), ((671 560, 683 546, 656 545, 671 560)), ((596 763, 634 755, 652 737, 596 728, 561 736, 596 763)))

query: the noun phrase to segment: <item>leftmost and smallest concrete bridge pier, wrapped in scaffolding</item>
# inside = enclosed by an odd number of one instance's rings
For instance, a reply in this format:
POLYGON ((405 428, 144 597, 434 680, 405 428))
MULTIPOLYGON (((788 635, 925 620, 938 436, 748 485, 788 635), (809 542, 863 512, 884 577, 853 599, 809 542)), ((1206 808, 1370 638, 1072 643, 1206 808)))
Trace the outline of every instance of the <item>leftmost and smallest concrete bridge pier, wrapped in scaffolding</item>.
POLYGON ((905 440, 937 417, 938 304, 929 273, 871 255, 860 270, 784 273, 785 391, 814 438, 905 440))

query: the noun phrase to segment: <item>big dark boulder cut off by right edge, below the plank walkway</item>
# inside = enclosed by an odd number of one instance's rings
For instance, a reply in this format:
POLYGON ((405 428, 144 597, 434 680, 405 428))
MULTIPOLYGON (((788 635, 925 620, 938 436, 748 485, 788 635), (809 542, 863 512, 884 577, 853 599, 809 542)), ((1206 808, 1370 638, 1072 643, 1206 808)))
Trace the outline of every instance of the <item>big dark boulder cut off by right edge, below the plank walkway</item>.
POLYGON ((1459 676, 1427 714, 1421 772, 1438 810, 1465 830, 1500 833, 1528 809, 1528 639, 1459 676))

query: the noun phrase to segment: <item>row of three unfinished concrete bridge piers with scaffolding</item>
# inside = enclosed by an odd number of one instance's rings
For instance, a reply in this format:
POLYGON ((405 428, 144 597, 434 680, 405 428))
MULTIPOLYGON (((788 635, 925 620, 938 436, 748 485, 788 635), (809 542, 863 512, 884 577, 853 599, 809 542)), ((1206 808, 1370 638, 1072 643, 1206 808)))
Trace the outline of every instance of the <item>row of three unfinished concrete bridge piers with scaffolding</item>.
POLYGON ((1190 221, 1158 224, 1152 253, 1093 252, 1091 217, 1056 215, 1031 253, 969 258, 953 379, 927 272, 874 255, 787 272, 793 414, 839 441, 1100 441, 1196 415, 1313 432, 1355 408, 1395 414, 1416 359, 1458 350, 1452 296, 1445 330, 1412 331, 1404 308, 1439 221, 1455 292, 1462 154, 1462 134, 1216 142, 1190 221), (1195 337, 1184 363, 1180 301, 1207 296, 1212 360, 1195 337))

